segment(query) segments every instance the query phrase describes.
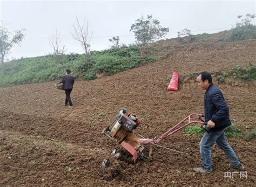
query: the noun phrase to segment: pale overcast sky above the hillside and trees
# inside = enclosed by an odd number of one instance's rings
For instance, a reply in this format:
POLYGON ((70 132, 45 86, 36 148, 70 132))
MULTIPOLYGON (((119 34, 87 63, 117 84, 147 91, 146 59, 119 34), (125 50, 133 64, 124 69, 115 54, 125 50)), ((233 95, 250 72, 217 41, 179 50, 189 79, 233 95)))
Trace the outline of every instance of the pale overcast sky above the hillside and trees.
MULTIPOLYGON (((14 47, 11 58, 36 57, 52 53, 49 38, 60 32, 66 53, 83 53, 71 32, 76 16, 86 17, 93 30, 91 50, 111 46, 110 38, 119 36, 120 43, 135 41, 130 27, 142 15, 153 15, 160 25, 169 27, 166 38, 190 29, 192 34, 214 33, 231 29, 238 15, 255 13, 255 1, 1 1, 0 20, 9 23, 10 31, 24 28, 21 47, 14 47)), ((255 24, 255 20, 253 22, 255 24)))

